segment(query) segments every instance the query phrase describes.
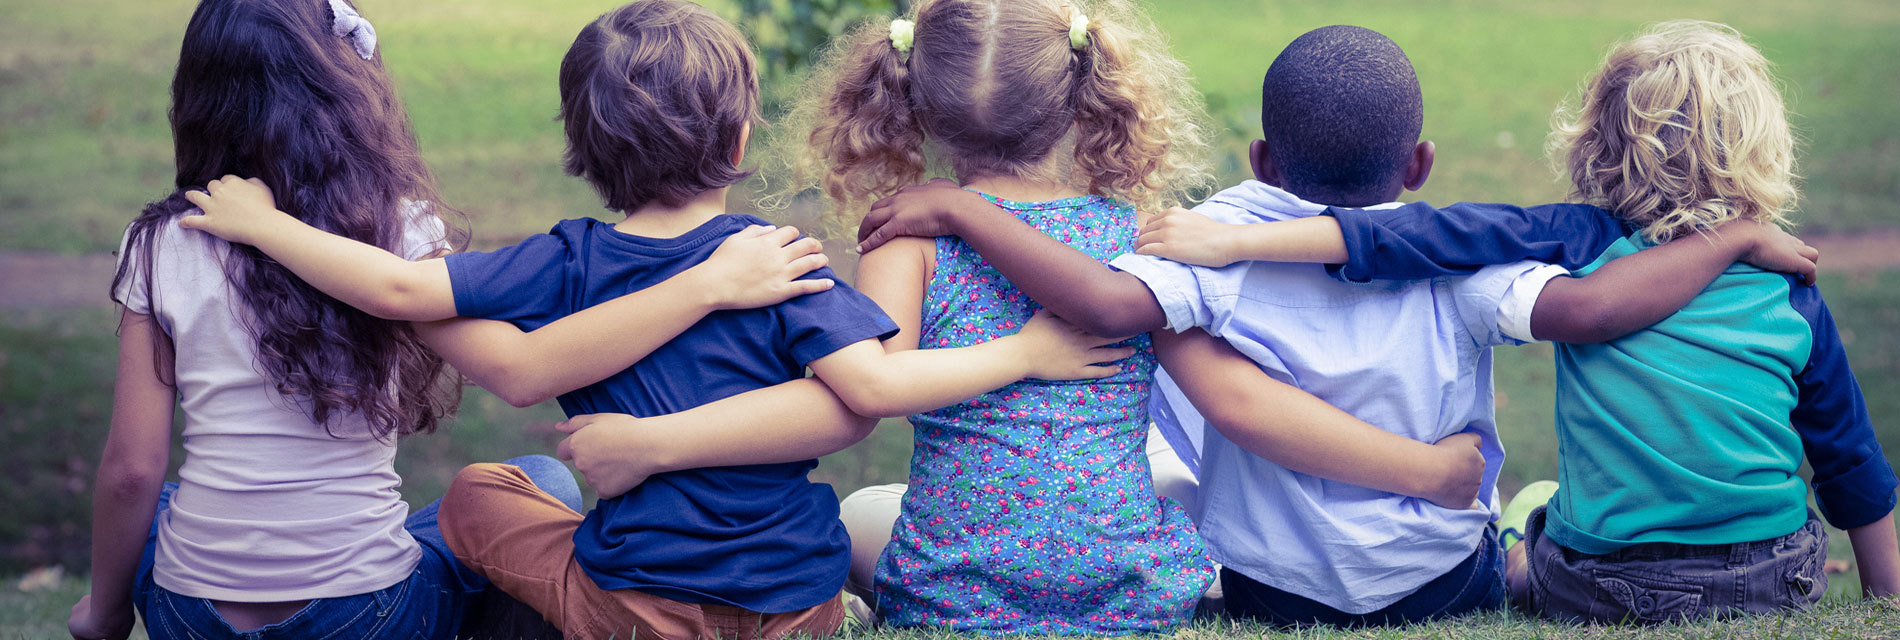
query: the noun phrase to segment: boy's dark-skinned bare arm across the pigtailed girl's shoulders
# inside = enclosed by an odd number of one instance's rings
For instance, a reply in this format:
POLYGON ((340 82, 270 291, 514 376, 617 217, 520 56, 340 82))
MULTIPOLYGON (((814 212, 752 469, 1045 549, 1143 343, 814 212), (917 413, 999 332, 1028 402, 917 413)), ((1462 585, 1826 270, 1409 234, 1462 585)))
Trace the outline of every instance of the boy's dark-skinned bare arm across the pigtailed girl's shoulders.
POLYGON ((1037 304, 1098 336, 1132 336, 1167 325, 1138 277, 1022 224, 982 196, 948 180, 880 199, 859 228, 863 251, 893 237, 958 235, 1037 304))

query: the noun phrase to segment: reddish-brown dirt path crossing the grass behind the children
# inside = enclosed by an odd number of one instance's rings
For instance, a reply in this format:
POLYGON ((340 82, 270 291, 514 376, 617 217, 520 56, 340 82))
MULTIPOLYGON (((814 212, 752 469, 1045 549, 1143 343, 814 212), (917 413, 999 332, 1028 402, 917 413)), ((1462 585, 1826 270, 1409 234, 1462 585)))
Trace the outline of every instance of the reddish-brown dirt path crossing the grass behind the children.
MULTIPOLYGON (((1900 228, 1803 235, 1834 273, 1900 270, 1900 228)), ((0 251, 0 310, 110 308, 110 254, 0 251)))

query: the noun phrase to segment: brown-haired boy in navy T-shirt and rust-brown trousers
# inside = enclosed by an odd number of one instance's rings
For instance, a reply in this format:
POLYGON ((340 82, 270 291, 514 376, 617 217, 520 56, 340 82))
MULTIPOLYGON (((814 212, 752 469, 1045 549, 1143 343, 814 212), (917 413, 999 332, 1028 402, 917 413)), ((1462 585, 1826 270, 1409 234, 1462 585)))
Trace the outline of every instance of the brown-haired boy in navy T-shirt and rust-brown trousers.
MULTIPOLYGON (((688 2, 633 2, 585 27, 560 66, 568 173, 625 213, 618 224, 564 220, 496 253, 403 262, 274 211, 268 192, 241 180, 194 196, 205 215, 186 224, 255 243, 317 289, 376 313, 448 310, 536 329, 657 287, 760 224, 726 215, 728 186, 747 177, 739 161, 756 101, 754 59, 732 25, 688 2)), ((804 378, 809 367, 857 414, 895 416, 1026 376, 1102 376, 1117 368, 1092 363, 1130 353, 1098 349, 1106 340, 1047 315, 1018 327, 969 349, 885 353, 878 340, 895 325, 857 291, 834 287, 707 313, 560 405, 570 416, 673 414, 804 378)), ((644 329, 610 338, 644 340, 644 329)), ((443 536, 458 558, 566 636, 823 636, 842 621, 847 547, 836 496, 806 477, 815 463, 659 473, 587 517, 513 467, 473 465, 443 499, 443 536)))

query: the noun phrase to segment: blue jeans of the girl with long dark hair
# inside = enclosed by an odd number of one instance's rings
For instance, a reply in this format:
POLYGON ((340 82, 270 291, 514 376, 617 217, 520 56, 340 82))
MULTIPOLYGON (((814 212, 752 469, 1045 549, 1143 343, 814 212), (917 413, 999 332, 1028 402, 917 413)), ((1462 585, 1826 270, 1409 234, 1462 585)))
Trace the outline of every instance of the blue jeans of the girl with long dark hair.
MULTIPOLYGON (((547 456, 522 456, 507 463, 521 467, 530 480, 549 496, 555 496, 574 511, 581 507, 580 484, 560 461, 547 456)), ((144 619, 144 631, 154 640, 169 638, 454 638, 462 631, 462 621, 469 613, 469 604, 483 594, 488 581, 456 560, 443 541, 443 530, 435 522, 435 509, 441 501, 416 509, 403 528, 422 545, 422 562, 408 579, 382 591, 312 600, 304 610, 289 619, 262 629, 232 629, 211 606, 211 600, 180 596, 152 581, 152 555, 158 549, 158 518, 171 507, 171 492, 179 486, 165 482, 158 496, 158 517, 152 520, 152 534, 144 543, 144 556, 139 560, 139 577, 133 585, 133 604, 144 619)))

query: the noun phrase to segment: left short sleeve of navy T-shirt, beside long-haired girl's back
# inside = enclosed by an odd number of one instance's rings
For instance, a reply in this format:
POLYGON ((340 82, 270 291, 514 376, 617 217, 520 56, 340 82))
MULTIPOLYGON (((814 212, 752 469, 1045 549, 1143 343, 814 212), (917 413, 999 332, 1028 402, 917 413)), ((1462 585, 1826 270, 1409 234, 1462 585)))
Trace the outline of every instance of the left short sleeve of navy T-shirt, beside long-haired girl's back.
POLYGON ((568 241, 530 235, 513 247, 456 253, 446 258, 456 315, 515 321, 532 330, 572 313, 568 241))

